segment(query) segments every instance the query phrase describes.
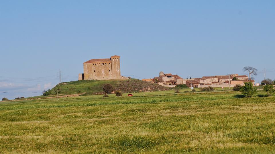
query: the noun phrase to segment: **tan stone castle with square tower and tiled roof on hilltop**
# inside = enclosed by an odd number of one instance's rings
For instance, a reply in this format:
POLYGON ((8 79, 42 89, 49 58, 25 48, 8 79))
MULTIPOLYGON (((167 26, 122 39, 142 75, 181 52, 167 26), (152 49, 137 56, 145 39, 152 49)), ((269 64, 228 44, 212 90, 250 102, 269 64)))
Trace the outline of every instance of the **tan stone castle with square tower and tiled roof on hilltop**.
POLYGON ((91 59, 83 63, 84 73, 78 74, 78 80, 122 79, 120 75, 120 56, 105 59, 91 59))

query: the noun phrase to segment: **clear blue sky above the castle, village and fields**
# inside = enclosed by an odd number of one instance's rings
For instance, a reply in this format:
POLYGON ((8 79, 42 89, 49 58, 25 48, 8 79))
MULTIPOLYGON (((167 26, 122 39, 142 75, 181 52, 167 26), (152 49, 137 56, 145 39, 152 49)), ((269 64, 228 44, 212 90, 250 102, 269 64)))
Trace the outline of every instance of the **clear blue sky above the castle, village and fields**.
MULTIPOLYGON (((275 79, 275 1, 0 1, 0 92, 77 80, 121 56, 121 74, 193 78, 258 69, 275 79), (40 78, 42 77, 42 78, 40 78)), ((139 78, 139 79, 141 79, 139 78)), ((6 94, 13 99, 32 94, 6 94)))

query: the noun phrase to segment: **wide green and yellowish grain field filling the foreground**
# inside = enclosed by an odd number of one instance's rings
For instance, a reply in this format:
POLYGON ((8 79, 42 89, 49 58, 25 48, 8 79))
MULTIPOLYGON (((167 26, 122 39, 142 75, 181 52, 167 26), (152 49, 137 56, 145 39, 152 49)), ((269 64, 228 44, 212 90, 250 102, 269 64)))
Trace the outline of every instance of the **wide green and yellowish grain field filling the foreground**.
POLYGON ((0 153, 275 153, 274 96, 133 94, 0 102, 0 153))

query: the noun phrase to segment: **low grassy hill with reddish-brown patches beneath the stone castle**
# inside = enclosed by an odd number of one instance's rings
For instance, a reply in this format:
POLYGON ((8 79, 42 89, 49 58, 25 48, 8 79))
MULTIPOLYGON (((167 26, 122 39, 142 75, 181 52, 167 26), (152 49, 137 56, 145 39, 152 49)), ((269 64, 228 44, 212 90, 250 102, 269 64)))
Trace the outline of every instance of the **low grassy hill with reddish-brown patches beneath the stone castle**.
POLYGON ((122 93, 129 92, 143 92, 144 91, 162 91, 169 90, 169 88, 160 86, 155 83, 145 82, 138 79, 127 79, 127 80, 80 80, 72 82, 63 82, 56 85, 50 91, 51 95, 58 94, 79 94, 85 93, 84 95, 95 95, 103 94, 103 85, 111 84, 115 90, 119 90, 122 93))

